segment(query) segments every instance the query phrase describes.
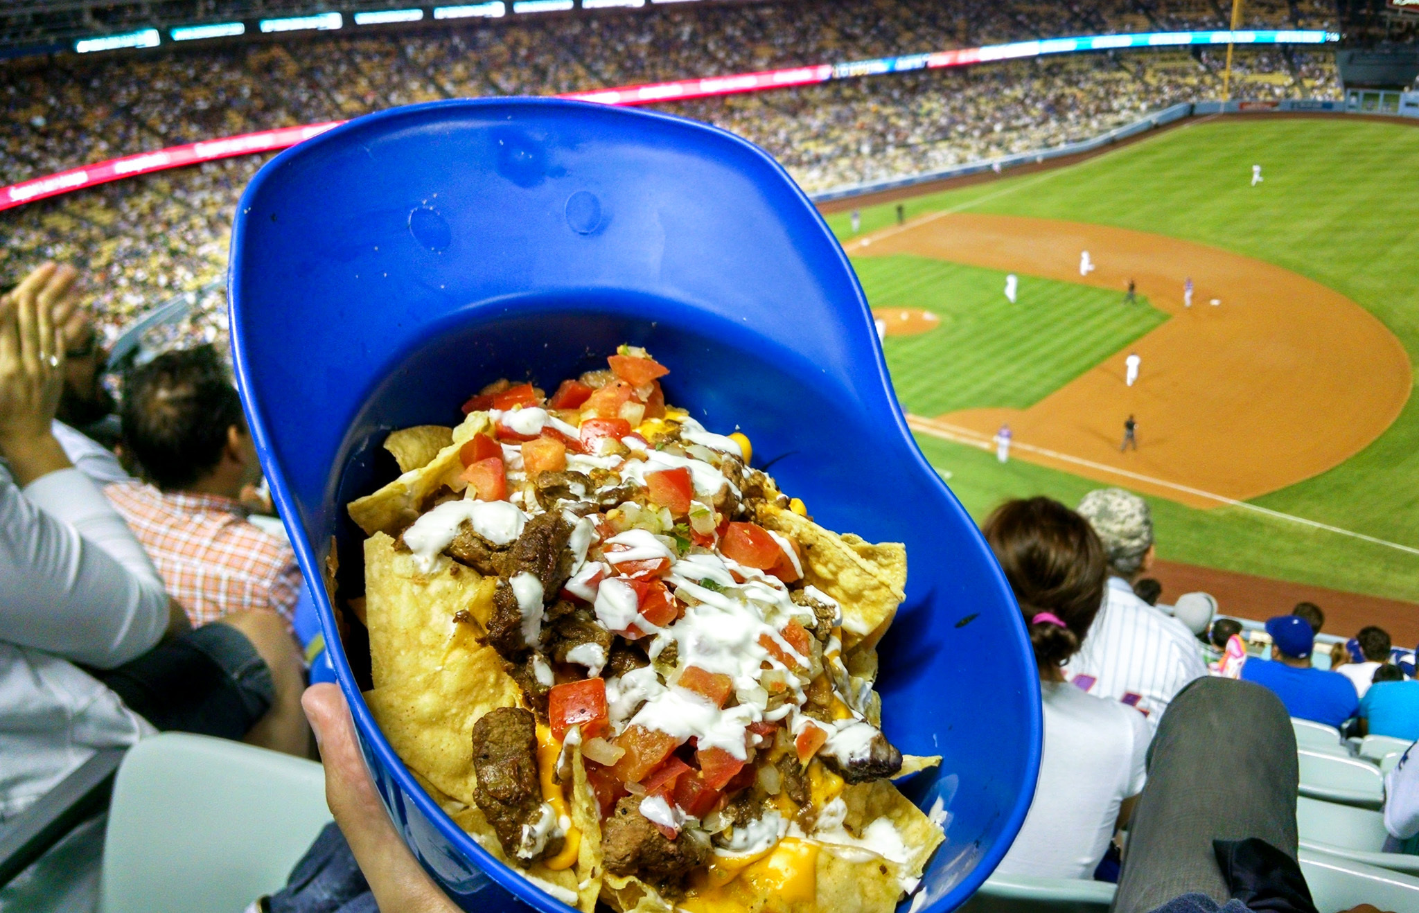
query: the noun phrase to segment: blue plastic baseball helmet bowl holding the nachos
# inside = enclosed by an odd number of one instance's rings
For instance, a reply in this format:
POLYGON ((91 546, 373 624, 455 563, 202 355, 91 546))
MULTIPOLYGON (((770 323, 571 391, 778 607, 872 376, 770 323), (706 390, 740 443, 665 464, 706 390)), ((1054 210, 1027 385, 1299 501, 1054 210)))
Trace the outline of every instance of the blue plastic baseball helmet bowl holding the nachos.
MULTIPOLYGON (((230 309, 247 417, 301 568, 325 580, 336 543, 343 595, 363 591, 345 505, 389 478, 390 430, 453 424, 497 377, 555 386, 604 367, 619 343, 650 349, 671 369, 667 398, 711 430, 742 428, 755 465, 820 523, 907 543, 880 690, 888 737, 944 756, 902 783, 948 812, 927 909, 961 904, 1005 855, 1040 754, 1019 610, 907 430, 847 258, 766 153, 678 118, 548 99, 369 115, 247 187, 230 309)), ((360 698, 328 587, 311 588, 365 760, 424 868, 468 910, 514 897, 566 910, 414 783, 360 698)))

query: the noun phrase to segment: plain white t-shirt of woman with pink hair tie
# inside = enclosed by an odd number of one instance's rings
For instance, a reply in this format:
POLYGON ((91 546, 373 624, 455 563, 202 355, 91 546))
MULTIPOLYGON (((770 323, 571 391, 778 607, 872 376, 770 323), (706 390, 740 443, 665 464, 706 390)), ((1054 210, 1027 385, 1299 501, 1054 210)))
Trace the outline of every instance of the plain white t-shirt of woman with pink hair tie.
POLYGON ((1152 730, 1138 710, 1073 685, 1046 682, 1040 692, 1040 778, 998 870, 1088 879, 1114 836, 1118 807, 1144 788, 1152 730))

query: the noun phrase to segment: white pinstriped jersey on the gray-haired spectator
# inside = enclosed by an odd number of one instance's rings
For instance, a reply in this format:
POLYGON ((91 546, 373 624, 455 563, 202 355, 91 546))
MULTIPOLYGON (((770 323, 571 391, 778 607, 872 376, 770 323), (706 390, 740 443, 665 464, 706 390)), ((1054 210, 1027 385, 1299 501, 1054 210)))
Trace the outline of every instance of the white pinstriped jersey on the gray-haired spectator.
POLYGON ((1074 685, 1144 710, 1154 729, 1178 692, 1206 673, 1198 638, 1134 595, 1120 577, 1108 578, 1104 605, 1064 666, 1074 685))

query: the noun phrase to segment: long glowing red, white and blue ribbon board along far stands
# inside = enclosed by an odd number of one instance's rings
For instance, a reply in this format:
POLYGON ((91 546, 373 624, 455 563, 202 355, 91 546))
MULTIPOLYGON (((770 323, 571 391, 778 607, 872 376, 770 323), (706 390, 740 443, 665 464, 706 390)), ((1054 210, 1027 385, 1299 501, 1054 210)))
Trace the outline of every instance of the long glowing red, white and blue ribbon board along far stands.
MULTIPOLYGON (((583 6, 590 0, 583 0, 583 6)), ((603 6, 610 6, 609 0, 602 0, 603 6)), ((617 6, 630 6, 631 0, 620 0, 617 6)), ((434 18, 460 18, 465 16, 504 16, 507 7, 501 1, 480 3, 457 7, 434 9, 434 18)), ((324 18, 325 28, 339 28, 339 13, 328 13, 324 18), (333 17, 333 18, 331 18, 333 17)), ((267 23, 295 20, 265 20, 261 23, 267 31, 267 23)), ((302 24, 302 27, 321 27, 302 24)), ((133 33, 143 34, 143 33, 133 33)), ((115 38, 135 40, 128 35, 115 38)), ((145 34, 145 41, 158 43, 156 30, 152 35, 145 34)), ((815 67, 795 67, 789 69, 766 69, 762 72, 745 72, 729 77, 707 77, 701 79, 677 79, 674 82, 653 82, 648 85, 627 85, 613 89, 597 89, 595 92, 569 92, 558 98, 569 98, 585 102, 599 102, 603 105, 647 105, 651 102, 683 101, 691 98, 705 98, 711 95, 734 95, 738 92, 758 92, 763 89, 780 89, 793 85, 813 85, 830 79, 856 79, 860 77, 876 77, 890 72, 910 72, 914 69, 938 69, 942 67, 966 67, 969 64, 985 64, 1002 60, 1020 60, 1029 57, 1043 57, 1046 54, 1078 54, 1087 51, 1115 51, 1120 48, 1158 48, 1179 45, 1219 45, 1219 44, 1315 44, 1325 45, 1340 41, 1340 35, 1332 31, 1314 30, 1247 30, 1247 31, 1148 31, 1130 35, 1084 35, 1078 38, 1047 38, 1043 41, 1015 41, 1010 44, 992 44, 983 48, 959 48, 954 51, 937 51, 934 54, 907 54, 902 57, 881 57, 877 60, 849 61, 841 64, 817 64, 815 67)), ((125 45, 126 47, 126 45, 125 45)), ((150 47, 150 45, 149 45, 150 47)), ((98 48, 92 48, 98 50, 98 48)), ((210 162, 228 156, 243 156, 253 152, 271 152, 285 149, 295 143, 322 133, 332 126, 343 123, 314 123, 309 126, 291 126, 278 130, 263 130, 260 133, 245 133, 243 136, 228 136, 204 143, 190 143, 187 146, 173 146, 158 152, 145 152, 123 159, 111 159, 98 164, 88 164, 47 177, 37 177, 10 187, 0 187, 0 210, 21 206, 33 200, 43 200, 71 190, 92 187, 131 174, 146 174, 163 169, 180 167, 196 162, 210 162)))

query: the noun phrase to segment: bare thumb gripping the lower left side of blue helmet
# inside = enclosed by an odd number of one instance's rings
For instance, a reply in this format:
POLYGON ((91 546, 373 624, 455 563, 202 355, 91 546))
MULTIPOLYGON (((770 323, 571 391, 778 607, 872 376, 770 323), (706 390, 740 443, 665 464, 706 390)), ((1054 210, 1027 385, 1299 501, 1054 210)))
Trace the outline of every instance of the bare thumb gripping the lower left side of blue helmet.
POLYGON ((301 706, 311 720, 325 766, 325 801, 365 873, 382 910, 457 913, 399 836, 365 770, 345 695, 322 682, 305 689, 301 706))

